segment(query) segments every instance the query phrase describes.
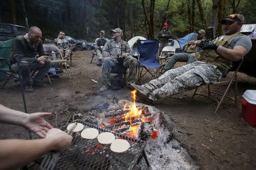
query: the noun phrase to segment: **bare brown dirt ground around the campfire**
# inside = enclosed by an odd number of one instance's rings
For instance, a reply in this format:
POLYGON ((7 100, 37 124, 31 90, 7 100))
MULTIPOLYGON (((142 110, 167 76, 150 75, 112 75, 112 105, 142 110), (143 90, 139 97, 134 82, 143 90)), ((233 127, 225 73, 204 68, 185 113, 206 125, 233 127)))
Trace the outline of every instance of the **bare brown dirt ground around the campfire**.
MULTIPOLYGON (((73 54, 73 65, 68 69, 72 79, 66 74, 60 79, 52 79, 52 84, 44 79, 47 87, 25 94, 28 112, 52 112, 53 116, 47 120, 59 127, 104 104, 105 100, 113 97, 130 100, 130 90, 126 87, 104 95, 97 94, 101 67, 89 63, 91 53, 85 50, 73 54)), ((178 66, 182 64, 178 63, 178 66)), ((0 90, 0 103, 24 111, 21 92, 15 91, 14 85, 10 80, 0 90)), ((255 169, 256 129, 243 120, 240 103, 243 92, 255 88, 255 78, 239 74, 238 107, 233 107, 233 103, 225 99, 216 114, 213 114, 216 103, 200 96, 191 100, 193 91, 160 99, 154 106, 176 122, 175 138, 188 150, 200 169, 255 169)), ((205 89, 202 87, 200 91, 205 89)), ((224 91, 224 87, 215 89, 224 91)), ((28 138, 28 132, 18 126, 0 124, 0 128, 1 139, 28 138)))

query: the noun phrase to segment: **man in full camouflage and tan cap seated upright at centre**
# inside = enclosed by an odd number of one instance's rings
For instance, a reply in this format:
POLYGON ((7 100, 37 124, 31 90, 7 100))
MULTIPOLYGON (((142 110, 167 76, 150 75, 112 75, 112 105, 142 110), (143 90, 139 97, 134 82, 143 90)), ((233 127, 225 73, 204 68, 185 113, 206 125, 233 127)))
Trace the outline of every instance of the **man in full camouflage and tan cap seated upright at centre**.
POLYGON ((110 88, 110 70, 112 67, 117 67, 118 64, 122 64, 125 67, 129 67, 129 75, 127 79, 127 86, 130 87, 131 83, 135 83, 138 61, 131 55, 133 52, 127 42, 122 40, 123 31, 120 28, 111 30, 113 35, 112 40, 106 42, 102 56, 104 57, 102 65, 102 87, 101 91, 106 91, 110 88), (119 62, 123 60, 123 63, 119 62))

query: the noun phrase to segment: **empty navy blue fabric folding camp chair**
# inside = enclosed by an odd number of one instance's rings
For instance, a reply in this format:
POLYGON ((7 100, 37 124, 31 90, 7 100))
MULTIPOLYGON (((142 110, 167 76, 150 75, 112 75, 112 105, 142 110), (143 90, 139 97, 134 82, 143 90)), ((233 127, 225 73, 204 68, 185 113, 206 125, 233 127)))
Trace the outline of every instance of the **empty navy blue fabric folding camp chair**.
POLYGON ((152 78, 158 78, 161 71, 163 70, 164 63, 163 64, 159 62, 158 59, 156 59, 156 55, 158 53, 158 40, 138 40, 138 51, 139 51, 139 74, 138 79, 141 80, 141 78, 146 74, 149 73, 152 78), (146 70, 145 73, 143 73, 143 70, 146 70), (151 71, 152 69, 156 69, 154 73, 151 71))

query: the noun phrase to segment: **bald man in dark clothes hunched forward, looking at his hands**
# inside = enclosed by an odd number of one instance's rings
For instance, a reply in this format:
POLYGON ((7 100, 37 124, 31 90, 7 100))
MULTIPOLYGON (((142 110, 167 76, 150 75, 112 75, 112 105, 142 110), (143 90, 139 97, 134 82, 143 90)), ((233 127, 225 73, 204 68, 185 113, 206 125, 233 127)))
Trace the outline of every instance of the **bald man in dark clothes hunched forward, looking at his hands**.
POLYGON ((47 59, 48 56, 44 56, 43 42, 40 37, 42 37, 42 31, 38 27, 30 27, 26 35, 15 38, 11 49, 10 65, 11 70, 15 73, 18 73, 18 63, 14 56, 15 54, 22 56, 20 69, 26 92, 33 91, 32 85, 45 87, 46 84, 42 84, 40 81, 51 67, 51 60, 47 59), (31 70, 39 70, 33 81, 30 74, 31 70))

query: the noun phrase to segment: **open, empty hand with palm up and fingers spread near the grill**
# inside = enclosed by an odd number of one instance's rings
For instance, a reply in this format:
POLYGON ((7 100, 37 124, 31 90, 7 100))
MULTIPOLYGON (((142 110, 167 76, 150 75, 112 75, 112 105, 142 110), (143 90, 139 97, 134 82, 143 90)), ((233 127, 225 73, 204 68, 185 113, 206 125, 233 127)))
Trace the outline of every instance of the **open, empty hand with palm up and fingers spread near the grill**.
POLYGON ((22 121, 22 126, 39 135, 39 137, 45 138, 47 131, 53 128, 52 125, 43 118, 44 116, 51 116, 52 113, 38 112, 26 115, 27 116, 22 121))

